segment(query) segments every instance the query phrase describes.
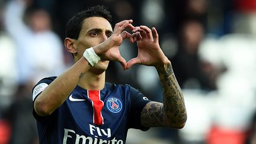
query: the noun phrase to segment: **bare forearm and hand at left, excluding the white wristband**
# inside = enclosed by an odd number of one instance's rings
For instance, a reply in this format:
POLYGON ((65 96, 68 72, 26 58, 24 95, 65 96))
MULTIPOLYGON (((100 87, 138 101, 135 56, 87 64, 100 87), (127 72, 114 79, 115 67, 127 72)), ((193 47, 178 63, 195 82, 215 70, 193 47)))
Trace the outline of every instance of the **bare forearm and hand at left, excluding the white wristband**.
MULTIPOLYGON (((104 60, 119 61, 124 68, 126 62, 121 57, 119 46, 123 39, 129 38, 133 42, 132 35, 123 31, 124 28, 132 26, 132 20, 124 20, 117 23, 114 33, 103 43, 94 46, 95 53, 104 60)), ((72 46, 72 44, 66 44, 72 46)), ((60 105, 64 103, 69 94, 78 84, 84 73, 89 70, 90 66, 84 57, 78 60, 71 68, 58 76, 34 101, 34 110, 39 116, 48 116, 53 113, 60 105)))

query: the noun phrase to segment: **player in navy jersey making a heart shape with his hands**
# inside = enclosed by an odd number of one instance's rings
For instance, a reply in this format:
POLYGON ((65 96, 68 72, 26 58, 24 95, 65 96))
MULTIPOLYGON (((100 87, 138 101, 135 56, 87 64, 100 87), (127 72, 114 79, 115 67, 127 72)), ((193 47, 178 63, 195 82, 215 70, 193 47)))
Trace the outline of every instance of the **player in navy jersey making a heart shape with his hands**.
POLYGON ((133 27, 132 20, 124 20, 112 30, 110 21, 110 13, 100 6, 69 21, 65 46, 75 64, 57 78, 42 79, 33 89, 40 143, 125 143, 129 128, 184 127, 183 94, 171 62, 159 47, 156 29, 133 27), (137 41, 139 50, 127 63, 119 52, 123 39, 137 41), (155 66, 164 104, 149 101, 129 85, 105 82, 109 60, 120 62, 123 69, 155 66))

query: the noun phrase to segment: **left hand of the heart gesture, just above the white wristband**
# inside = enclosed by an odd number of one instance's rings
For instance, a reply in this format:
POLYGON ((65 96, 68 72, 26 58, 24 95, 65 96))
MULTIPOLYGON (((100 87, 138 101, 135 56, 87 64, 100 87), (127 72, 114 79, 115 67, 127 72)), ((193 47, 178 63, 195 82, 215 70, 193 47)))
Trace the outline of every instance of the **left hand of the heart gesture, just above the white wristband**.
POLYGON ((133 30, 135 27, 132 25, 132 20, 124 20, 117 23, 114 27, 113 34, 105 40, 103 43, 94 47, 95 53, 103 60, 115 60, 121 63, 124 69, 126 69, 126 60, 120 55, 119 46, 124 39, 129 39, 131 43, 136 40, 140 40, 142 37, 139 32, 133 34, 123 31, 126 27, 133 30))

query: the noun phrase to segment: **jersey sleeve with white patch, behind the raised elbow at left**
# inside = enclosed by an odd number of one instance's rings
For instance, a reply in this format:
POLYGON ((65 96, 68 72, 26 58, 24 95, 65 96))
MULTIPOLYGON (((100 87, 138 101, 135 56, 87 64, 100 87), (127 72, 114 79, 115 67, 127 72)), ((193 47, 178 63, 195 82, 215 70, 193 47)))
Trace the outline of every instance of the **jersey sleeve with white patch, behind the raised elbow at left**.
MULTIPOLYGON (((32 89, 32 100, 33 102, 36 100, 36 98, 38 97, 39 94, 41 94, 42 91, 44 91, 44 89, 46 89, 48 87, 48 85, 54 80, 56 79, 56 76, 53 77, 49 77, 49 78, 44 78, 41 79, 41 81, 39 81, 34 88, 32 89)), ((33 108, 33 116, 35 117, 35 119, 40 120, 43 119, 43 117, 39 116, 36 111, 33 108)))

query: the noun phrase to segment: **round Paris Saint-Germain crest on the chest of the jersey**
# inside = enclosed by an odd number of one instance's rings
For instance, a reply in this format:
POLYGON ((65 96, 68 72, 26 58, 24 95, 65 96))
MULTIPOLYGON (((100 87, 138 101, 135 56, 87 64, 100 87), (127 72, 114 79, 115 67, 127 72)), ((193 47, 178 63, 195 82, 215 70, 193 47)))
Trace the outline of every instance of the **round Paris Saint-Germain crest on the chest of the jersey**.
POLYGON ((107 100, 107 108, 112 113, 119 113, 123 107, 123 104, 119 98, 110 97, 107 100))

